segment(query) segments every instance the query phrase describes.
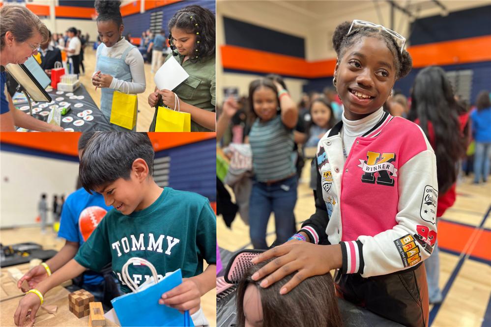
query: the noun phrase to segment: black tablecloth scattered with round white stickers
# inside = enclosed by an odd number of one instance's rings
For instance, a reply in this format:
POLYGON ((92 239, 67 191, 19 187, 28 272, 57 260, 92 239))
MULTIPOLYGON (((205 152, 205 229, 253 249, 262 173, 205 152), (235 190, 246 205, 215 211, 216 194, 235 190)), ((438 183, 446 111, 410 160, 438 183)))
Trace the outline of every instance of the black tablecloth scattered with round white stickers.
MULTIPOLYGON (((58 91, 57 89, 53 89, 53 90, 48 92, 48 94, 51 96, 53 101, 55 101, 54 105, 59 105, 60 102, 68 102, 71 104, 70 111, 68 111, 65 115, 61 116, 61 127, 63 127, 64 129, 73 128, 74 132, 114 132, 113 128, 111 127, 111 124, 106 119, 106 117, 104 117, 101 110, 99 110, 99 108, 97 107, 95 102, 92 100, 92 98, 88 94, 84 85, 80 84, 80 87, 78 89, 76 89, 75 92, 63 92, 63 94, 56 94, 57 91, 58 91), (83 95, 84 99, 82 99, 82 100, 70 99, 69 97, 67 97, 65 95, 66 93, 73 93, 73 95, 76 95, 76 96, 83 95), (57 101, 56 100, 57 98, 63 98, 63 100, 57 101), (84 106, 81 108, 75 108, 74 106, 78 103, 83 104, 84 106), (83 112, 84 110, 92 110, 92 113, 90 113, 90 115, 94 116, 94 119, 91 121, 85 121, 83 118, 77 117, 77 114, 79 112, 83 112), (65 123, 62 121, 63 118, 65 118, 65 117, 72 117, 73 121, 71 121, 69 123, 65 123), (79 120, 79 119, 84 121, 84 125, 82 125, 82 126, 73 125, 73 122, 76 120, 79 120)), ((32 106, 32 110, 34 110, 34 108, 38 108, 39 105, 41 105, 41 104, 43 104, 43 103, 40 102, 37 105, 32 106)), ((53 104, 51 104, 50 106, 52 106, 52 105, 53 104)), ((24 103, 24 104, 17 103, 17 104, 15 104, 15 107, 18 109, 25 107, 25 106, 29 106, 29 104, 28 103, 24 103)), ((24 109, 22 111, 29 113, 29 108, 24 109)), ((51 111, 51 109, 49 109, 49 107, 47 107, 47 108, 41 109, 39 112, 42 112, 42 111, 51 111)), ((36 114, 36 113, 39 114, 39 112, 33 111, 32 113, 33 114, 36 114)), ((48 118, 48 116, 45 116, 44 118, 46 120, 48 118)))

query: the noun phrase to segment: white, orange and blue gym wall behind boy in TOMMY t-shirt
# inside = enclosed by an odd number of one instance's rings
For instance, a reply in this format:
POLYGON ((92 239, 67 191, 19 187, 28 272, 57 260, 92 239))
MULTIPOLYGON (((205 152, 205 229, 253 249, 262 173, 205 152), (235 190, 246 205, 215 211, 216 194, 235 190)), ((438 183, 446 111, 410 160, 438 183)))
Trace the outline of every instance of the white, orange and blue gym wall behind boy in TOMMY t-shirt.
MULTIPOLYGON (((27 134, 24 139, 17 133, 1 136, 0 228, 34 225, 42 193, 47 194, 51 205, 54 194, 65 194, 66 198, 76 190, 79 136, 58 137, 53 142, 49 135, 29 139, 27 134)), ((162 158, 167 157, 169 163, 166 171, 159 172, 159 176, 168 176, 168 183, 161 186, 196 192, 216 202, 215 133, 179 134, 149 134, 155 149, 155 171, 162 158)), ((50 215, 48 222, 52 222, 50 215)))

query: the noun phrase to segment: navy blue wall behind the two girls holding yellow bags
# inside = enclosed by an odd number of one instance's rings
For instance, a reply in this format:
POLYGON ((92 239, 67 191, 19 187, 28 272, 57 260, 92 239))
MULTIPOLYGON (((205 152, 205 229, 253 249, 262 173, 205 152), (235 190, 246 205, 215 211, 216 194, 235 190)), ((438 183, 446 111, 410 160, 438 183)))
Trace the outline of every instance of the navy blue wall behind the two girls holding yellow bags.
POLYGON ((210 9, 214 13, 216 12, 216 2, 215 0, 184 0, 168 4, 163 7, 158 7, 145 11, 143 14, 133 14, 130 16, 123 17, 124 32, 126 35, 131 34, 132 37, 141 37, 142 32, 150 28, 150 14, 152 12, 163 11, 162 28, 165 29, 166 36, 169 35, 169 20, 174 16, 177 10, 190 6, 192 4, 198 4, 203 8, 210 9))

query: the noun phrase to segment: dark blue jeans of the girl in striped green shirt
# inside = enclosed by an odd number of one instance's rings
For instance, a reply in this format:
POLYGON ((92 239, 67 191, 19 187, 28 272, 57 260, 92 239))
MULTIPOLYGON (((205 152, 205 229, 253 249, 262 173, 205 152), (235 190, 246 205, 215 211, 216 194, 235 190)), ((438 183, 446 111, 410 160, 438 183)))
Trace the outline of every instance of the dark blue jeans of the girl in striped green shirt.
POLYGON ((249 203, 250 236, 254 248, 267 249, 266 227, 274 212, 278 244, 288 241, 294 225, 293 208, 297 201, 297 176, 276 183, 253 182, 249 203))

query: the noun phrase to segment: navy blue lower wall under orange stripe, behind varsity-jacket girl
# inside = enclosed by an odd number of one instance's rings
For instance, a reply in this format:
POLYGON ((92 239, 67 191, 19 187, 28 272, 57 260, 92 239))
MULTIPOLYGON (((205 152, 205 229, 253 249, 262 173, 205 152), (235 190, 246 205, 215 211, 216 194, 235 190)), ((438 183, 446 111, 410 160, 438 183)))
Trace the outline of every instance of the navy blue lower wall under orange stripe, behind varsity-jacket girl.
MULTIPOLYGON (((477 94, 482 90, 491 91, 491 61, 485 62, 473 62, 468 64, 460 64, 460 65, 449 65, 449 66, 441 66, 445 71, 454 71, 454 70, 464 70, 464 69, 472 69, 472 89, 470 94, 470 102, 471 104, 475 104, 477 94)), ((409 96, 409 90, 416 78, 418 72, 423 68, 414 68, 411 70, 409 74, 407 74, 404 79, 399 80, 394 85, 394 89, 399 89, 405 96, 409 96)), ((318 91, 321 92, 322 89, 326 86, 332 86, 332 77, 322 78, 322 79, 312 79, 309 80, 307 85, 303 86, 304 92, 310 91, 318 91)))

